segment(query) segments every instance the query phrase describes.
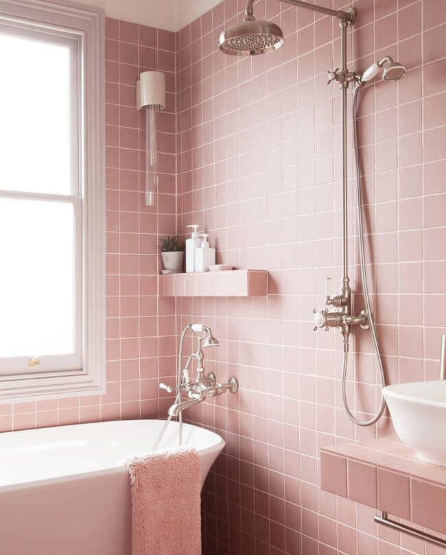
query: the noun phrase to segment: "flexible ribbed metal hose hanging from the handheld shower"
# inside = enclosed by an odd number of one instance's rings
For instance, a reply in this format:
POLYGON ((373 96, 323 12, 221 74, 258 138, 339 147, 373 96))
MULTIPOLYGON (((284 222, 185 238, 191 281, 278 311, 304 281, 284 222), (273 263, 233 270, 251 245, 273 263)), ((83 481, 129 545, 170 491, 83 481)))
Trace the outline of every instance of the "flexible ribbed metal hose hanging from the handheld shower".
MULTIPOLYGON (((365 261, 365 255, 364 255, 364 228, 363 228, 363 222, 362 222, 362 187, 361 187, 360 155, 358 152, 358 145, 357 145, 357 96, 360 91, 360 88, 361 88, 360 86, 356 86, 355 91, 353 92, 353 152, 354 152, 354 161, 355 161, 356 196, 357 196, 356 210, 357 210, 358 239, 360 243, 361 279, 362 279, 362 289, 364 291, 364 301, 366 303, 368 323, 370 325, 373 346, 375 348, 375 355, 379 366, 379 375, 381 377, 382 387, 384 388, 386 386, 386 376, 384 375, 384 367, 382 364, 381 353, 379 352, 379 345, 378 345, 378 340, 376 336, 375 322, 373 320, 372 311, 370 307, 370 300, 368 298, 366 261, 365 261)), ((355 418, 353 414, 351 414, 351 410, 349 409, 349 403, 347 402, 347 392, 346 392, 348 357, 349 357, 349 353, 347 349, 344 349, 344 361, 342 363, 342 403, 344 404, 344 409, 347 412, 347 416, 355 425, 371 426, 375 424, 379 420, 379 418, 381 418, 386 408, 386 401, 384 401, 384 397, 382 397, 381 406, 379 407, 378 412, 370 420, 360 421, 360 420, 357 420, 357 418, 355 418)))

